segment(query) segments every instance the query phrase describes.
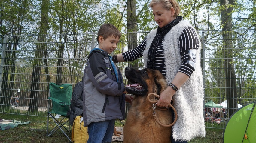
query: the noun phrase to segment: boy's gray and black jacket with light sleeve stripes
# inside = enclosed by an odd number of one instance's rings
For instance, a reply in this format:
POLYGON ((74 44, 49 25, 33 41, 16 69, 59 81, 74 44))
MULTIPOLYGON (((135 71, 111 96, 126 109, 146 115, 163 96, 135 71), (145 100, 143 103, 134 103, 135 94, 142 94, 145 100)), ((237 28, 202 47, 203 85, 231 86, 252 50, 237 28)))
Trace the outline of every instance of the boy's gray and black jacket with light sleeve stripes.
POLYGON ((84 126, 92 122, 125 119, 123 78, 107 52, 95 48, 84 69, 84 126), (118 82, 117 82, 118 81, 118 82))

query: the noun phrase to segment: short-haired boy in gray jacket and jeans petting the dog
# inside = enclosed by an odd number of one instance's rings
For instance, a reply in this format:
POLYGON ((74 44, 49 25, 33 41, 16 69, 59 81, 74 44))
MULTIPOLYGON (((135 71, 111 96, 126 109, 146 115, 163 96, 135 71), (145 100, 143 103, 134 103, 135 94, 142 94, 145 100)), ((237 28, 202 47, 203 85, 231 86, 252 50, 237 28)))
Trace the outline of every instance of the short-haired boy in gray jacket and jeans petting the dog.
POLYGON ((83 115, 88 126, 87 143, 112 141, 115 119, 125 119, 125 100, 131 104, 132 96, 125 95, 120 70, 109 56, 117 47, 120 31, 112 24, 103 24, 97 41, 99 48, 90 51, 84 69, 83 115))

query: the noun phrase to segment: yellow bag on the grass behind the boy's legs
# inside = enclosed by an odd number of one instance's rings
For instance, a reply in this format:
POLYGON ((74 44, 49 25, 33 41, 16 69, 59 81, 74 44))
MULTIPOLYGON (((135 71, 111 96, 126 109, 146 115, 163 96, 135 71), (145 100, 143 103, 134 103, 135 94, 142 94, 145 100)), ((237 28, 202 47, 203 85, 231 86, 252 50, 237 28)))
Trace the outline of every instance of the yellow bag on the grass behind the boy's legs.
POLYGON ((74 143, 86 143, 89 138, 87 127, 84 127, 84 121, 80 123, 81 117, 76 116, 73 123, 71 141, 74 143))

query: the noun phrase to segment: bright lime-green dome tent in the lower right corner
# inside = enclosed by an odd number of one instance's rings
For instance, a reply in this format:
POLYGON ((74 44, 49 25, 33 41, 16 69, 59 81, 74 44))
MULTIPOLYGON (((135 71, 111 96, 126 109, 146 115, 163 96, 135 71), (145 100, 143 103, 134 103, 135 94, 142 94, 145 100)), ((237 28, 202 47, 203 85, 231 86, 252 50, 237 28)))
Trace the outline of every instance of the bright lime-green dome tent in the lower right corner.
POLYGON ((256 101, 249 103, 234 112, 226 123, 223 132, 223 143, 256 142, 256 101))

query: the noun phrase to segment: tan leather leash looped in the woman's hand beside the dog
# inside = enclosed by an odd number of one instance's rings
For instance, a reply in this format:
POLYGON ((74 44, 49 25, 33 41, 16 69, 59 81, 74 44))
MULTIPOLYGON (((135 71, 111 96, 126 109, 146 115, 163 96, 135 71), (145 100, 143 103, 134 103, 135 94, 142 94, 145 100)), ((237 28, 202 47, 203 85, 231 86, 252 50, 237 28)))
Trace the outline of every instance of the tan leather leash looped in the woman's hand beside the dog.
MULTIPOLYGON (((159 119, 157 118, 157 113, 155 112, 155 109, 156 109, 156 107, 157 107, 155 103, 157 103, 158 100, 155 100, 155 101, 150 100, 149 97, 150 97, 151 95, 154 95, 154 96, 157 97, 158 99, 160 98, 160 95, 158 95, 158 94, 156 94, 156 93, 149 93, 149 94, 148 94, 148 97, 147 97, 147 98, 148 98, 148 101, 149 101, 150 103, 153 103, 153 107, 152 107, 152 108, 153 108, 153 116, 155 117, 157 123, 160 124, 160 125, 163 126, 163 127, 171 127, 172 125, 174 125, 175 122, 177 121, 177 118, 178 118, 176 109, 172 106, 172 104, 169 104, 169 106, 166 107, 166 108, 158 108, 159 110, 169 110, 168 108, 171 107, 171 108, 173 109, 174 113, 175 113, 175 119, 174 119, 174 121, 173 121, 171 124, 168 124, 168 125, 162 124, 162 123, 159 121, 159 119)), ((172 99, 172 101, 174 102, 173 99, 172 99)))

